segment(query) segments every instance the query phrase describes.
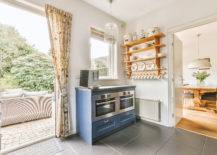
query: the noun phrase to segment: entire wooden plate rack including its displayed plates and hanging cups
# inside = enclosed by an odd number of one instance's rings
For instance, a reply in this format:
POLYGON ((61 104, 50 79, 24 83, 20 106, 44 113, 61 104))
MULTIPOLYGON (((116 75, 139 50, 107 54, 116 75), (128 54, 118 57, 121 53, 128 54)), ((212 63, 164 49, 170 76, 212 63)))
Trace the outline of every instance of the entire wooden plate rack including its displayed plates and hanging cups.
POLYGON ((123 62, 125 72, 131 79, 161 79, 166 74, 166 68, 161 66, 161 59, 166 55, 160 52, 165 44, 160 38, 165 37, 162 32, 127 42, 123 45, 123 62))

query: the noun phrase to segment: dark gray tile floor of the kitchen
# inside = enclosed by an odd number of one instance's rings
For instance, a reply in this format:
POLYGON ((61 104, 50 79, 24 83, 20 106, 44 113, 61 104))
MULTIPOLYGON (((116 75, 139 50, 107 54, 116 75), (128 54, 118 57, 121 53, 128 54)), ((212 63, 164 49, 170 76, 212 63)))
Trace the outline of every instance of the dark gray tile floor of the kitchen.
POLYGON ((31 155, 217 155, 217 140, 181 129, 138 122, 93 146, 84 143, 79 136, 64 141, 54 138, 15 151, 13 155, 29 152, 31 155))

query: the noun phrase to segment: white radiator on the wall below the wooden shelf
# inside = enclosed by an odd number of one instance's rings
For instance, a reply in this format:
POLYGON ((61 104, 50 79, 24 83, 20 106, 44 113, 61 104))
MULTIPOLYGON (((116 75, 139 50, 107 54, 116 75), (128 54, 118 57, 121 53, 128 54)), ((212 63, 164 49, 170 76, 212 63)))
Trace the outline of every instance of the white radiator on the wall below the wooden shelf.
POLYGON ((159 100, 136 98, 136 114, 145 120, 160 122, 161 102, 159 100))

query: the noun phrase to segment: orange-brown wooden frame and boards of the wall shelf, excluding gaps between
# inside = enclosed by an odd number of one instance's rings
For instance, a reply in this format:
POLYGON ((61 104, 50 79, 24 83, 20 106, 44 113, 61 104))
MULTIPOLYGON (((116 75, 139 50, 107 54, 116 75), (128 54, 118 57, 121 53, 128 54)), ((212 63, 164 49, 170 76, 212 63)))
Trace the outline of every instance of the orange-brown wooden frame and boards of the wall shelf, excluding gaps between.
POLYGON ((141 78, 142 79, 151 79, 151 77, 154 77, 155 79, 163 78, 163 76, 166 73, 166 69, 161 67, 160 62, 161 62, 162 58, 166 58, 166 55, 160 54, 160 49, 162 47, 165 47, 166 45, 160 43, 160 38, 162 38, 162 37, 165 37, 165 35, 162 32, 159 32, 159 33, 154 34, 154 35, 147 37, 147 38, 142 38, 142 39, 138 39, 138 40, 135 40, 132 42, 128 42, 122 46, 124 49, 124 52, 123 52, 124 61, 123 62, 125 64, 126 75, 128 78, 133 78, 133 79, 141 79, 141 78), (152 45, 150 47, 136 49, 136 50, 131 49, 133 46, 137 46, 137 45, 139 46, 141 44, 144 44, 144 43, 147 43, 150 41, 154 41, 154 45, 152 45), (136 60, 131 60, 131 57, 134 54, 144 53, 144 52, 148 52, 150 50, 152 50, 152 52, 155 52, 154 57, 139 58, 136 60), (154 63, 154 65, 157 69, 148 69, 148 70, 143 70, 143 71, 132 71, 131 66, 134 63, 138 63, 138 62, 154 63), (138 77, 137 77, 137 75, 138 75, 138 77))

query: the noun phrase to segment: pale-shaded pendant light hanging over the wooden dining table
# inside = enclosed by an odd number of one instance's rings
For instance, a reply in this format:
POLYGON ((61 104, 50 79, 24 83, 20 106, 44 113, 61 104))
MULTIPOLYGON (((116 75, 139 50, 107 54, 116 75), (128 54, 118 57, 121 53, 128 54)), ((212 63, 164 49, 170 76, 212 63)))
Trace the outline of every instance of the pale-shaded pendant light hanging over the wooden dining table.
POLYGON ((201 34, 197 34, 197 59, 189 63, 188 65, 189 69, 205 70, 205 69, 210 69, 211 67, 210 58, 199 58, 200 56, 200 49, 199 49, 200 36, 201 34))

